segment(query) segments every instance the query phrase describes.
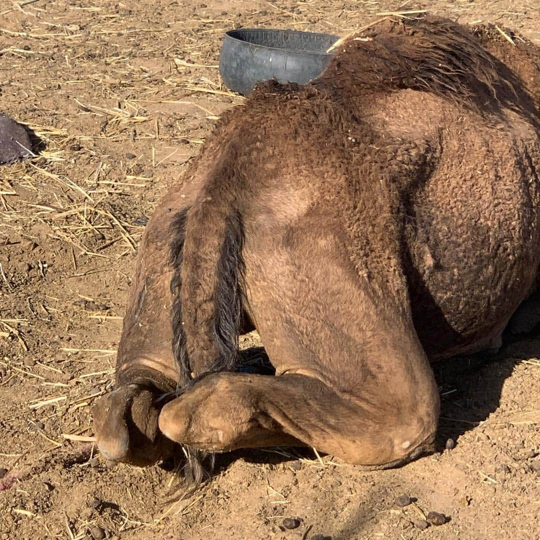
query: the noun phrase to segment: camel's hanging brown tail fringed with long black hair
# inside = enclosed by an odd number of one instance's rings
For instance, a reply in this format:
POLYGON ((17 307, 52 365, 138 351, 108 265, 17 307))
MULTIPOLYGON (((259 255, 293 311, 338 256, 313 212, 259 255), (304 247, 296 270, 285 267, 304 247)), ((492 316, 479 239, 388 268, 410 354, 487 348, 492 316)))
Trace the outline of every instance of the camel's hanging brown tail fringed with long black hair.
MULTIPOLYGON (((174 224, 172 324, 179 392, 200 376, 233 370, 239 363, 245 306, 244 227, 232 193, 224 192, 225 178, 214 174, 174 224)), ((205 455, 188 447, 184 453, 185 484, 193 489, 207 477, 205 455)))

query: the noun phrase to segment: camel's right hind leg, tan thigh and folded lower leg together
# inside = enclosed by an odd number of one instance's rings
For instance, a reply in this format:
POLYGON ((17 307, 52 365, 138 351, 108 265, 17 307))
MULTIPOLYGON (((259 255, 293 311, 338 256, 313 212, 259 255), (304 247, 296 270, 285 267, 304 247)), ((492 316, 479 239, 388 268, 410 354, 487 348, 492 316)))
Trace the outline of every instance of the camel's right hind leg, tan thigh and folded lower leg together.
POLYGON ((295 242, 290 257, 266 245, 260 268, 247 261, 278 375, 202 375, 161 411, 167 437, 208 451, 301 442, 375 467, 430 448, 438 392, 407 309, 375 300, 326 240, 310 241, 309 257, 295 242))

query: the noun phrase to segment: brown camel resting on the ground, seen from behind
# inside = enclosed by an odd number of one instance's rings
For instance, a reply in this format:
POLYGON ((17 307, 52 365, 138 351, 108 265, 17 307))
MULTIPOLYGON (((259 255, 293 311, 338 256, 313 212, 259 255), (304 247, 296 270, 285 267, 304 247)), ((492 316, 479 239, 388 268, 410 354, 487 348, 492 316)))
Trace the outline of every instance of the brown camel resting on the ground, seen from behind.
POLYGON ((538 282, 539 68, 485 28, 387 20, 225 113, 141 241, 102 454, 432 450, 430 362, 497 348, 538 282), (238 369, 253 328, 275 375, 238 369))

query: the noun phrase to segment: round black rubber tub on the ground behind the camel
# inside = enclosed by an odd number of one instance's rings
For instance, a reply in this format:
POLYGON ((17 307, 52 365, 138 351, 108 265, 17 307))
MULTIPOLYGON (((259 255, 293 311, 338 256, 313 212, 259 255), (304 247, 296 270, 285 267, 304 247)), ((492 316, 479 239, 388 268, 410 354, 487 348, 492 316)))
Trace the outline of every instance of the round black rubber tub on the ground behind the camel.
POLYGON ((338 36, 296 30, 240 29, 225 33, 219 58, 223 82, 248 94, 259 81, 306 84, 326 68, 338 36))

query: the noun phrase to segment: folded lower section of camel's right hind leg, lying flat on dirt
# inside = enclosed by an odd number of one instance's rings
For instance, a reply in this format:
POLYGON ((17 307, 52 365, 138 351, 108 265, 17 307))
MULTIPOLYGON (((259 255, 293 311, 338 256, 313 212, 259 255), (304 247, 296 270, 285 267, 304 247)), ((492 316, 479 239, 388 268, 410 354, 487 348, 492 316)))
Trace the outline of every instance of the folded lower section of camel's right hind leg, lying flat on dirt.
POLYGON ((214 373, 166 404, 159 427, 173 441, 213 452, 304 443, 374 467, 431 448, 438 403, 416 414, 388 389, 364 387, 355 397, 306 375, 214 373))

